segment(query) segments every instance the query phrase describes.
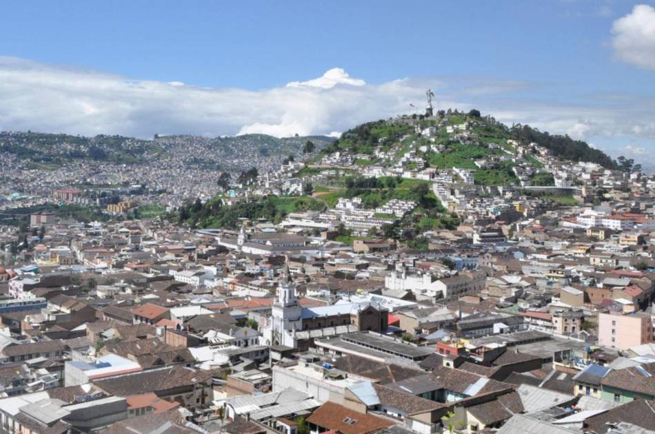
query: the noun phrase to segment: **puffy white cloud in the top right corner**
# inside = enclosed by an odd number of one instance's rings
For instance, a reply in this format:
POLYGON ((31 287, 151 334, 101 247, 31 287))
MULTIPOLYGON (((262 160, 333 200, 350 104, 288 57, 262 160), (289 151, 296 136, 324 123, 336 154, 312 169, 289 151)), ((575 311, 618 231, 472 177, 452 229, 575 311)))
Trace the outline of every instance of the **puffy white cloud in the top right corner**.
POLYGON ((636 5, 614 21, 612 45, 618 59, 655 70, 655 8, 636 5))

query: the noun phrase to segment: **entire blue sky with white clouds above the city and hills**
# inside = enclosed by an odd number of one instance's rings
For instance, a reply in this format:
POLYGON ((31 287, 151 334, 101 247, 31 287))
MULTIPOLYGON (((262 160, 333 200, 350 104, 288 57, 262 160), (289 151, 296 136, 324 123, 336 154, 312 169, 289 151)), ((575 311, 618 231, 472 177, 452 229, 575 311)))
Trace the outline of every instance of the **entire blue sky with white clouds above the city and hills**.
POLYGON ((0 7, 0 130, 338 135, 422 112, 430 88, 439 109, 655 162, 655 1, 0 7))

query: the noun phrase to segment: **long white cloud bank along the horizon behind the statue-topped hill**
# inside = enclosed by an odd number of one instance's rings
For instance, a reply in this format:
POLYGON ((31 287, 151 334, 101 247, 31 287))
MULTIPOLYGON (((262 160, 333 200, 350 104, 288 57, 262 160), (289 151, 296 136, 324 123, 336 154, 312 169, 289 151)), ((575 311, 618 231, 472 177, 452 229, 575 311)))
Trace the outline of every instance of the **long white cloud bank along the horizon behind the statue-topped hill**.
MULTIPOLYGON (((498 79, 424 78, 365 83, 334 68, 270 89, 211 89, 177 81, 131 80, 0 57, 0 130, 221 136, 330 134, 396 114, 422 112, 431 88, 437 109, 477 108, 499 121, 529 123, 574 138, 655 141, 655 99, 588 97, 587 103, 532 98, 540 86, 498 79), (410 107, 410 103, 415 108, 410 107)), ((605 141, 606 142, 606 141, 605 141)))

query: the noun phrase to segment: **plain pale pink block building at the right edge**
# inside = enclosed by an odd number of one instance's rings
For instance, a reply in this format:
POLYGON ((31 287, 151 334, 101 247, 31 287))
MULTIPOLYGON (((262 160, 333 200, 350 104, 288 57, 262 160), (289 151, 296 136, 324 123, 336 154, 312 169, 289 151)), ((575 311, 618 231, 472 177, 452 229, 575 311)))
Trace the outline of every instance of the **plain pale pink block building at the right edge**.
POLYGON ((653 318, 650 313, 599 313, 598 344, 603 347, 629 349, 654 342, 653 318))

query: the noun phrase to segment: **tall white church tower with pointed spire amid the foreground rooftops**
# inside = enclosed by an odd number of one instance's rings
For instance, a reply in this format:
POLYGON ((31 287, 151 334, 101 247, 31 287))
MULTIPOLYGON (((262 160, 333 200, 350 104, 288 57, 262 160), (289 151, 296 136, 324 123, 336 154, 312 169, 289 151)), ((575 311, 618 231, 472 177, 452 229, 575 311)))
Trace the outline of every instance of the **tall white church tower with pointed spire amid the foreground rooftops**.
POLYGON ((303 329, 303 307, 296 298, 296 286, 291 282, 288 262, 285 262, 277 300, 273 303, 271 322, 263 330, 265 345, 285 345, 296 348, 296 330, 303 329))

